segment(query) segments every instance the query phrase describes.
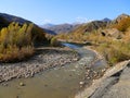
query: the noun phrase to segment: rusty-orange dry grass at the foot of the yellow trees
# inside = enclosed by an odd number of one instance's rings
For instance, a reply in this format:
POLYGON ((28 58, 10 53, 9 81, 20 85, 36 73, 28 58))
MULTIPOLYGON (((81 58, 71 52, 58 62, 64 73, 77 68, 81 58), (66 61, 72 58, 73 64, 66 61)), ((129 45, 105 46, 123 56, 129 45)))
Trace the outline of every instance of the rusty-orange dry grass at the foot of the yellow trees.
POLYGON ((2 53, 0 53, 1 62, 17 62, 25 60, 34 54, 32 47, 23 47, 21 50, 17 47, 10 47, 4 49, 2 53))

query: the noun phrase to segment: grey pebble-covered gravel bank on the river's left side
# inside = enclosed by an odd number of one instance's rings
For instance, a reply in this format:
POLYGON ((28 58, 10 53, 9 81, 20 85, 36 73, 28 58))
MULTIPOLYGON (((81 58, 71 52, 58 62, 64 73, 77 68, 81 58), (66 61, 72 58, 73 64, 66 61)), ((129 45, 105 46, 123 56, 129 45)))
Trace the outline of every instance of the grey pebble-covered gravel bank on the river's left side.
POLYGON ((0 64, 0 82, 30 77, 36 73, 77 61, 78 53, 67 48, 38 48, 27 61, 0 64))

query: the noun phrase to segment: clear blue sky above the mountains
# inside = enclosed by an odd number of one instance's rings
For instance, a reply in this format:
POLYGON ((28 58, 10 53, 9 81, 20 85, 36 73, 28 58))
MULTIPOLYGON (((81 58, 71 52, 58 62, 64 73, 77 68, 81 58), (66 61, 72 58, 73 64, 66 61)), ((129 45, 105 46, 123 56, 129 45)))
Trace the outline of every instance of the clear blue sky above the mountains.
POLYGON ((130 14, 129 0, 1 0, 0 12, 36 24, 88 22, 130 14))

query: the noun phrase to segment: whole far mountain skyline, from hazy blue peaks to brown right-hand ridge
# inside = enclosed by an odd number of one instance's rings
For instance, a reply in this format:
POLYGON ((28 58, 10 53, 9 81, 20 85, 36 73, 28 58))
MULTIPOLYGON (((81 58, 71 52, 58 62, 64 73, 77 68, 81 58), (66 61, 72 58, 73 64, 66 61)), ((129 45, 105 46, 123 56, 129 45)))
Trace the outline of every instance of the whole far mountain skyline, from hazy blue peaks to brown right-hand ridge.
POLYGON ((61 34, 61 33, 86 33, 91 32, 93 29, 99 29, 100 27, 108 27, 113 24, 119 23, 122 19, 126 19, 130 15, 128 14, 121 14, 115 20, 110 20, 108 17, 105 17, 100 21, 92 21, 89 23, 82 23, 82 24, 60 24, 60 25, 53 25, 48 24, 46 25, 46 30, 50 34, 61 34))

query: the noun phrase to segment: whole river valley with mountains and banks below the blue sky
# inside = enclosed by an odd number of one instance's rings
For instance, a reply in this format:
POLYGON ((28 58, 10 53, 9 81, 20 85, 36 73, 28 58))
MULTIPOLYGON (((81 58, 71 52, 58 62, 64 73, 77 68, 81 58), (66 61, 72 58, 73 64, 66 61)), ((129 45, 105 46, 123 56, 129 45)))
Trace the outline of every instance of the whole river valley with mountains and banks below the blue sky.
POLYGON ((0 13, 0 98, 115 98, 129 64, 128 14, 43 27, 0 13))

